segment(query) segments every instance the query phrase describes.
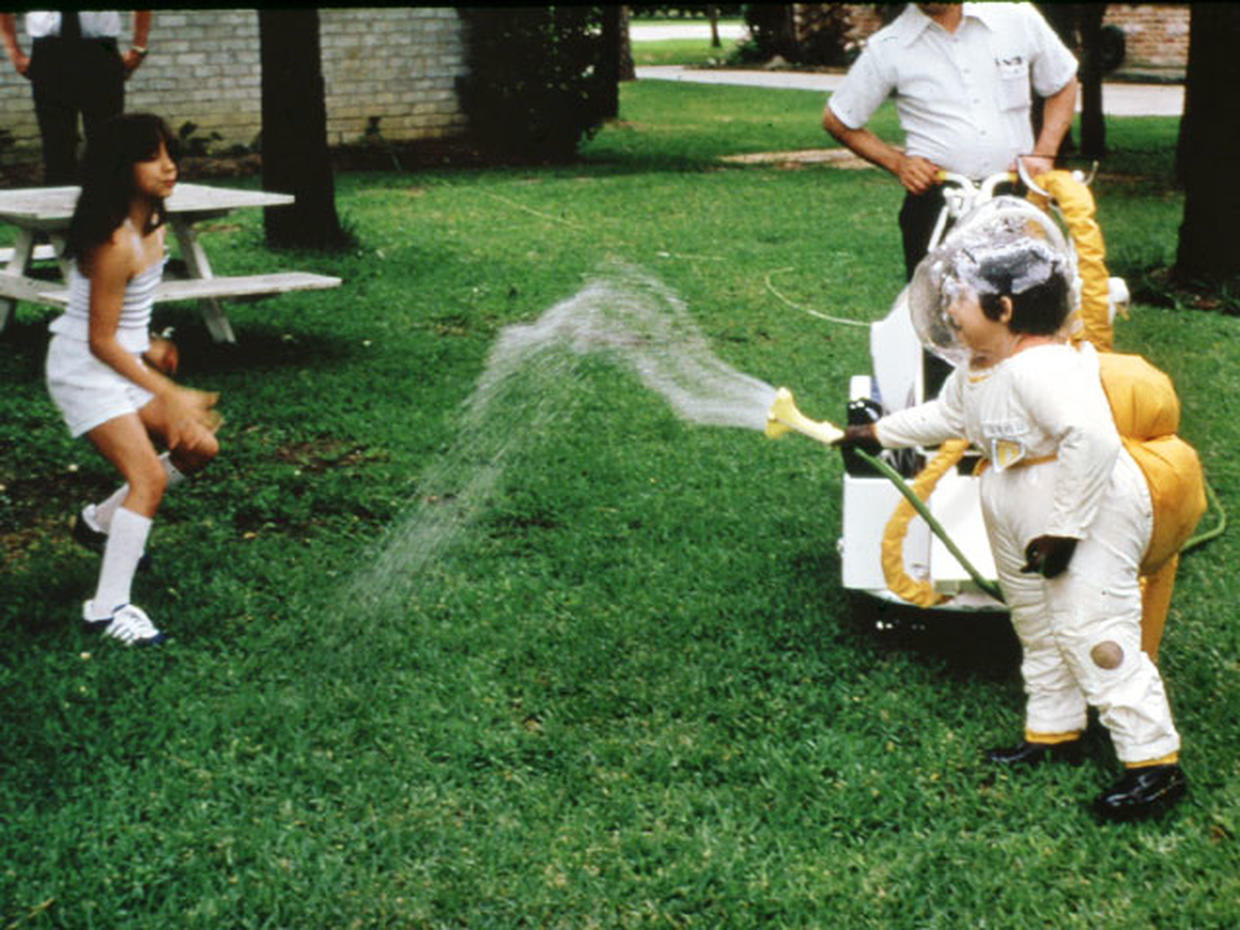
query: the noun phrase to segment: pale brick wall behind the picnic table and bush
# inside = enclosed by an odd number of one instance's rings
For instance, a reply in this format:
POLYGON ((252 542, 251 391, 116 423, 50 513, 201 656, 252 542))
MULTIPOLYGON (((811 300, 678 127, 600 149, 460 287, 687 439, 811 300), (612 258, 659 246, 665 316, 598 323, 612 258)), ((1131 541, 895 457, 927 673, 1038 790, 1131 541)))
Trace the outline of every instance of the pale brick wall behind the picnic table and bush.
MULTIPOLYGON (((30 42, 21 27, 22 48, 30 42)), ((122 47, 130 16, 123 15, 122 47)), ((439 7, 324 9, 319 12, 327 143, 361 139, 372 119, 389 141, 444 140, 465 134, 456 99, 464 72, 463 24, 439 7)), ((250 145, 259 133, 262 74, 255 10, 155 10, 150 55, 126 86, 125 108, 159 113, 176 131, 218 133, 218 149, 250 145)), ((0 129, 12 145, 2 162, 38 157, 30 86, 0 53, 0 129)))

